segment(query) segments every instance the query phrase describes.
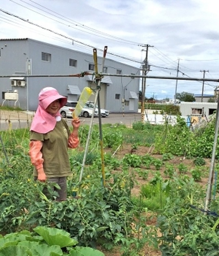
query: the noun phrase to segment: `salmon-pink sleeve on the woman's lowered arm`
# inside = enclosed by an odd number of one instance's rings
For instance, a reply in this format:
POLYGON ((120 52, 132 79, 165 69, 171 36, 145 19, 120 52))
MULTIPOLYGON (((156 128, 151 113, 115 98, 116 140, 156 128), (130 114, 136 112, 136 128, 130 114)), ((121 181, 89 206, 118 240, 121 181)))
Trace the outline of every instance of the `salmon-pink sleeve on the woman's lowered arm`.
POLYGON ((29 155, 31 163, 36 167, 36 169, 40 169, 43 167, 43 158, 42 152, 40 151, 42 148, 41 141, 30 141, 29 143, 29 155))

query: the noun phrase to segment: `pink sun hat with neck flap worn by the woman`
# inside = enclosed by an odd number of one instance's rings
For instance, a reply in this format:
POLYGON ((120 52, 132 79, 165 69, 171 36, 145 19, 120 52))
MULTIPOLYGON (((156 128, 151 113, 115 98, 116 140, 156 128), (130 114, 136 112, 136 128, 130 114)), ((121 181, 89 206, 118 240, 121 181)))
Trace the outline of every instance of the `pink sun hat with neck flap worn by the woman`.
POLYGON ((51 115, 46 111, 47 107, 55 100, 60 100, 60 108, 67 102, 67 98, 60 95, 53 87, 43 88, 38 96, 39 105, 31 123, 30 131, 37 133, 48 133, 52 131, 57 121, 61 121, 61 115, 58 111, 55 115, 51 115))

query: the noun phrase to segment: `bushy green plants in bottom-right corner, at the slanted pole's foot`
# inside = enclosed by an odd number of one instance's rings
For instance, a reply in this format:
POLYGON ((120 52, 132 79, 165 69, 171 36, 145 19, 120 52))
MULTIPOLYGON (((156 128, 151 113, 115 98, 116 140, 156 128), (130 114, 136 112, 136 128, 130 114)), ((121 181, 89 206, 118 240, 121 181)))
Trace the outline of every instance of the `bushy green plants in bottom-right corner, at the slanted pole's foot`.
POLYGON ((157 218, 162 255, 217 255, 219 234, 212 228, 216 219, 199 210, 203 189, 185 176, 172 179, 170 186, 166 205, 157 218))

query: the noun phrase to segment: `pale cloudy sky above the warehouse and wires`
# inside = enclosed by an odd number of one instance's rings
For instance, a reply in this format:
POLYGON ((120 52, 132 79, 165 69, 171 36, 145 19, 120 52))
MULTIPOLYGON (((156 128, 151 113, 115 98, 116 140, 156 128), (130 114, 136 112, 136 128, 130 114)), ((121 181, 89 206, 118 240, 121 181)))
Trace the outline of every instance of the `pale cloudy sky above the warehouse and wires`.
MULTIPOLYGON (((139 69, 148 44, 148 75, 176 77, 179 63, 179 77, 218 79, 218 7, 218 0, 4 0, 0 38, 28 37, 90 54, 107 46, 107 58, 139 69)), ((174 98, 176 80, 146 85, 147 98, 174 98)), ((212 95, 216 86, 205 82, 203 93, 212 95)), ((202 82, 178 80, 177 92, 183 91, 202 94, 202 82)))

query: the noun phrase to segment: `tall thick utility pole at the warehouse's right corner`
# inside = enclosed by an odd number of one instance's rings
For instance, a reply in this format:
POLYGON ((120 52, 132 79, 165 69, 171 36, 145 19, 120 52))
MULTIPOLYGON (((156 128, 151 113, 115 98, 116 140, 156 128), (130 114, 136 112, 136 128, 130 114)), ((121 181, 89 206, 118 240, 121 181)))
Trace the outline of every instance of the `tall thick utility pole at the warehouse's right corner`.
MULTIPOLYGON (((147 72, 150 71, 150 66, 147 65, 147 59, 148 59, 148 48, 153 47, 151 45, 144 45, 143 47, 146 47, 146 55, 144 60, 144 65, 142 66, 142 75, 146 76, 147 72)), ((146 88, 146 77, 142 77, 142 86, 141 86, 141 121, 144 121, 144 100, 145 100, 145 88, 146 88)))

